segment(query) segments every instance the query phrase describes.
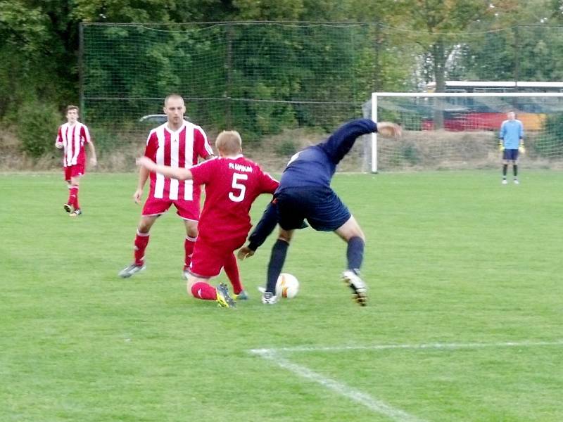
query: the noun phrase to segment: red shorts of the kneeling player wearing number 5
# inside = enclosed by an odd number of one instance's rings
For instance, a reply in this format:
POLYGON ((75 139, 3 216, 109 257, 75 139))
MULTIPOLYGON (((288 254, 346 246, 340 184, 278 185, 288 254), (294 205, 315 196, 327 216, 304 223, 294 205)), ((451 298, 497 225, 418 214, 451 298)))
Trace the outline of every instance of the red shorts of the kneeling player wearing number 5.
POLYGON ((198 236, 189 271, 203 279, 218 276, 229 255, 241 248, 245 241, 246 235, 229 239, 216 238, 213 241, 198 236))

